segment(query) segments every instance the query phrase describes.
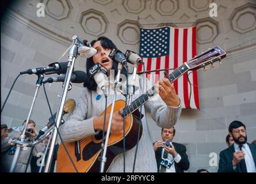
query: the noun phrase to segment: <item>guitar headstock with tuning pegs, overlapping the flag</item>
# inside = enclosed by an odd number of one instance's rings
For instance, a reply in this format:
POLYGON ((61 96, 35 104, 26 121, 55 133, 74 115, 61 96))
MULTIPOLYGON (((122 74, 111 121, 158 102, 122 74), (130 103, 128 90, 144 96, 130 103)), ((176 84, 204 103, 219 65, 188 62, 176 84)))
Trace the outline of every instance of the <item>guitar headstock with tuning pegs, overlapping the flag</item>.
POLYGON ((198 68, 205 68, 205 66, 213 63, 220 62, 221 59, 227 56, 227 53, 218 46, 209 49, 206 52, 194 57, 193 59, 186 62, 189 66, 189 70, 197 70, 198 68))

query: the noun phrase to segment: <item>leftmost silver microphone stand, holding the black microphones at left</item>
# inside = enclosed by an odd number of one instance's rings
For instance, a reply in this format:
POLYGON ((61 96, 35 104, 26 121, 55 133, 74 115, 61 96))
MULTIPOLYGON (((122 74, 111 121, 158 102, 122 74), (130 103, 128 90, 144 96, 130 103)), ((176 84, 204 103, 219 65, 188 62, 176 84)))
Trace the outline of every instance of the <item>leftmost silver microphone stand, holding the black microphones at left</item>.
MULTIPOLYGON (((36 81, 36 91, 35 91, 35 94, 34 94, 32 104, 31 104, 30 109, 29 109, 28 117, 26 118, 25 128, 23 129, 22 135, 20 136, 21 143, 25 142, 25 139, 26 139, 25 133, 28 129, 28 122, 30 120, 32 110, 33 110, 33 107, 35 105, 36 97, 37 97, 37 94, 39 92, 39 87, 42 85, 43 79, 44 79, 43 74, 40 74, 40 75, 37 75, 37 76, 38 76, 38 79, 36 81)), ((18 158, 20 156, 20 152, 21 152, 21 145, 17 144, 17 148, 16 148, 16 151, 15 151, 15 154, 14 154, 14 157, 13 157, 12 165, 10 167, 10 173, 14 173, 14 170, 15 170, 17 162, 18 162, 18 158)))

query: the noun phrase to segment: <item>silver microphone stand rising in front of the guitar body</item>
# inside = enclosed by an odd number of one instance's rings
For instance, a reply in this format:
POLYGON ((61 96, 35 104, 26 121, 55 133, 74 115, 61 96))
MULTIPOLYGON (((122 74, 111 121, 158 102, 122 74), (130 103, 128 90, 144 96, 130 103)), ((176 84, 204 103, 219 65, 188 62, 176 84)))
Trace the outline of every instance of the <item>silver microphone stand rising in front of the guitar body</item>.
POLYGON ((112 117, 114 113, 114 104, 116 103, 116 88, 120 85, 120 74, 121 70, 123 68, 123 65, 119 63, 118 68, 117 68, 117 76, 116 80, 114 81, 114 98, 111 106, 111 111, 110 111, 110 116, 109 116, 109 123, 108 123, 108 130, 106 131, 106 139, 105 139, 105 145, 104 145, 104 151, 103 151, 103 156, 102 156, 102 162, 101 162, 101 173, 104 173, 104 167, 106 163, 106 150, 108 148, 108 140, 109 140, 109 135, 110 135, 110 128, 112 124, 112 117))

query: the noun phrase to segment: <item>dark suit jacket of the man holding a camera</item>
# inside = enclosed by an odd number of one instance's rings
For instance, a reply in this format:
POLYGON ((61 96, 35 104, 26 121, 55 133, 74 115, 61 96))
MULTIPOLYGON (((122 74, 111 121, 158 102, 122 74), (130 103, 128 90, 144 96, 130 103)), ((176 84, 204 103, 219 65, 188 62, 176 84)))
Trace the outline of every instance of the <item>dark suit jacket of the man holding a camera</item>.
MULTIPOLYGON (((179 143, 173 143, 173 145, 174 145, 176 152, 179 155, 181 155, 181 160, 179 161, 179 163, 176 163, 174 161, 175 171, 176 171, 176 173, 184 173, 184 171, 189 169, 189 160, 188 160, 188 155, 186 154, 186 147, 185 147, 185 145, 182 145, 179 143)), ((155 151, 155 158, 156 158, 158 172, 159 172, 159 168, 160 168, 160 160, 162 157, 162 149, 163 149, 162 147, 159 147, 155 151)))

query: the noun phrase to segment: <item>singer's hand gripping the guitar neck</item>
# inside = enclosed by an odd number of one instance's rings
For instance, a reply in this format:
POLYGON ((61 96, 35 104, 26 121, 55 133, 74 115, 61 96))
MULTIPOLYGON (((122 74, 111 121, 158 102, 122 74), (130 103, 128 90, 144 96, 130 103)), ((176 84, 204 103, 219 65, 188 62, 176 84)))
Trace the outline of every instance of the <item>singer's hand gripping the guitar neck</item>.
POLYGON ((180 104, 179 97, 174 86, 168 79, 163 79, 156 83, 156 90, 166 105, 177 107, 180 104))

